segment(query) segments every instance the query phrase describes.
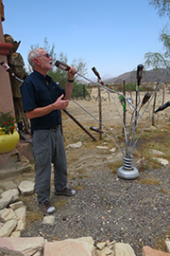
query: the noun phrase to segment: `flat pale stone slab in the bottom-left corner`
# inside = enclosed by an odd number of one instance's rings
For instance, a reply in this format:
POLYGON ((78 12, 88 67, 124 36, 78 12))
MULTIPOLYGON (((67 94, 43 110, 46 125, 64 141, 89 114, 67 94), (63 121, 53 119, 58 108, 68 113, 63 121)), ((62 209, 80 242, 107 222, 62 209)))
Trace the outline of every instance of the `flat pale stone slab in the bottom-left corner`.
POLYGON ((20 251, 25 256, 36 255, 36 253, 41 255, 43 246, 42 237, 0 237, 0 247, 20 251))

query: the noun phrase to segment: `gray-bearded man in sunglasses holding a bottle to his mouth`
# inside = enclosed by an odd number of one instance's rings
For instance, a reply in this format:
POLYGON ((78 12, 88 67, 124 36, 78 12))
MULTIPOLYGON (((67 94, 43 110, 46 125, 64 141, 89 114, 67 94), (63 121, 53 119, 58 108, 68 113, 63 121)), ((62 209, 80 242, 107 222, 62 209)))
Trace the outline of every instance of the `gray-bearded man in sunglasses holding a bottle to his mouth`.
POLYGON ((23 108, 31 123, 33 155, 35 159, 35 189, 39 205, 46 213, 56 209, 50 204, 51 163, 54 163, 56 195, 75 195, 67 188, 65 148, 60 133, 60 112, 68 106, 73 90, 76 69, 71 66, 65 89, 46 73, 53 68, 52 57, 36 48, 28 54, 33 72, 21 87, 23 108))

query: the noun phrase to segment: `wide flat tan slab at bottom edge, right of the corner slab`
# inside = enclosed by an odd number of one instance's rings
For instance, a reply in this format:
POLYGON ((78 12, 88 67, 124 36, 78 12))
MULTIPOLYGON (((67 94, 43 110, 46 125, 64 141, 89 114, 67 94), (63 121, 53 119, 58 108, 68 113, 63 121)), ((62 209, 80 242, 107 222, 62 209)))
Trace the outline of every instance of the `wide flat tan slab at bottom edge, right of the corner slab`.
POLYGON ((66 239, 53 243, 46 242, 44 245, 44 256, 92 256, 93 248, 92 237, 66 239))

